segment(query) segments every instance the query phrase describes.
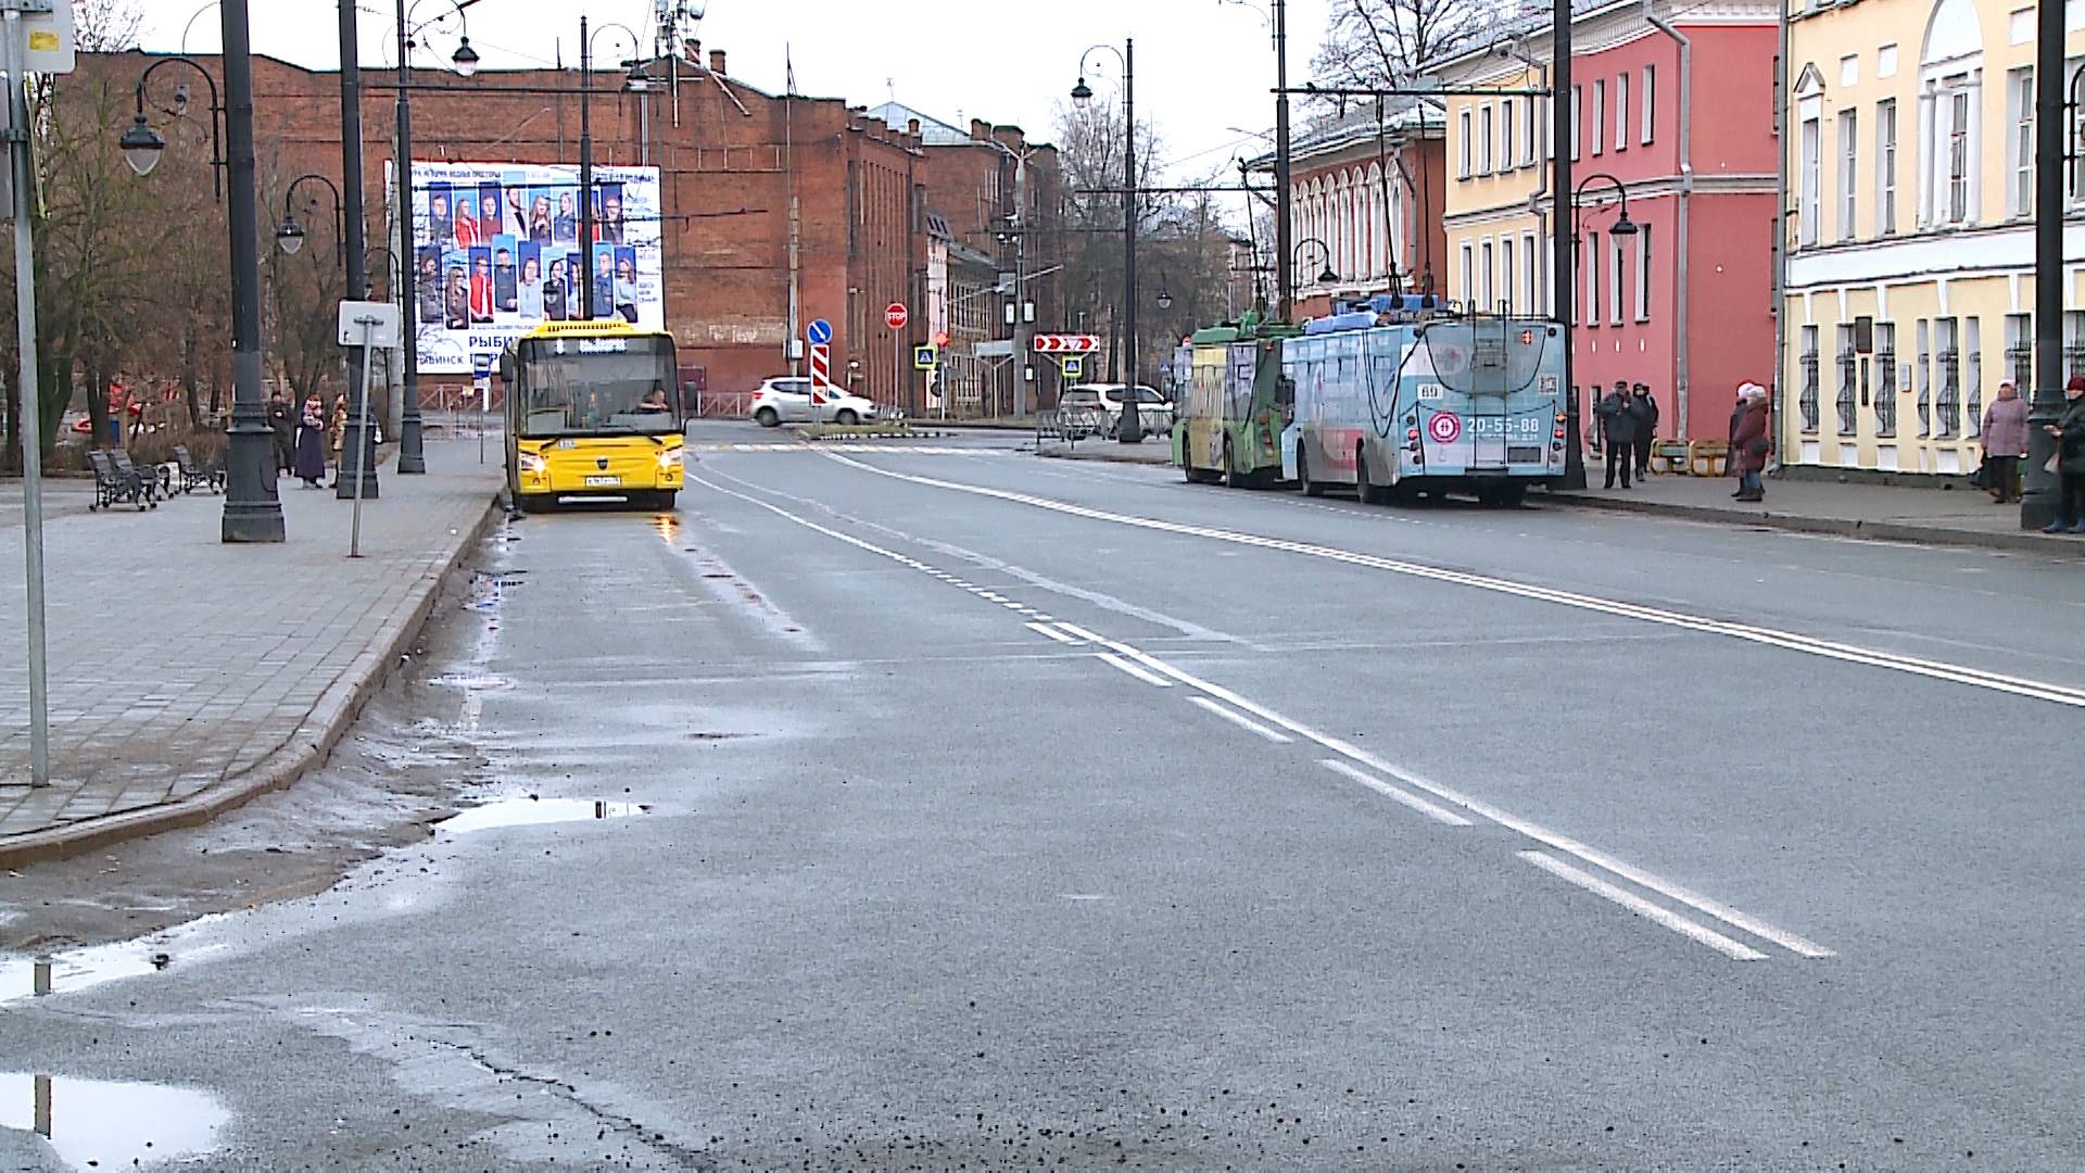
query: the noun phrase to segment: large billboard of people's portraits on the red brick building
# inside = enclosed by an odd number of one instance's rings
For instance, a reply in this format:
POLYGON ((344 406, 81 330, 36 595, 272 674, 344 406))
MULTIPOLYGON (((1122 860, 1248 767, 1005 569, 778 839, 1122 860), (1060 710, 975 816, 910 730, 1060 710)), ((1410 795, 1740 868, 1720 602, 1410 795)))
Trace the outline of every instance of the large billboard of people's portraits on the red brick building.
MULTIPOLYGON (((390 190, 396 192, 396 175, 390 190)), ((594 288, 580 290, 580 169, 413 161, 419 369, 469 374, 544 321, 665 328, 659 169, 594 167, 594 288)))

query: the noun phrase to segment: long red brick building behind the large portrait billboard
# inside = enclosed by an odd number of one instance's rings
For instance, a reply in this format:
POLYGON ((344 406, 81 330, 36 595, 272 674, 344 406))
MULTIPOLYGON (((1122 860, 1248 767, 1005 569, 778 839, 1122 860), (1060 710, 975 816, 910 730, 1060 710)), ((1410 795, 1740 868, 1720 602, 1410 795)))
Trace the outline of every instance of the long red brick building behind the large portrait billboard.
MULTIPOLYGON (((83 54, 81 71, 129 83, 154 56, 83 54)), ((219 69, 215 56, 196 61, 213 75, 219 69)), ((701 367, 711 403, 730 405, 759 380, 788 374, 788 340, 824 317, 834 326, 834 382, 917 411, 924 376, 911 363, 894 369, 892 355, 928 334, 917 311, 928 198, 947 200, 953 213, 1003 207, 1003 217, 1011 211, 1011 163, 990 165, 1003 154, 984 146, 928 150, 919 131, 890 127, 844 100, 769 94, 732 77, 723 50, 705 58, 696 42, 678 61, 646 63, 646 73, 653 86, 644 94, 628 92, 619 69, 594 73, 594 163, 661 169, 665 321, 680 338, 682 365, 701 367), (890 303, 913 307, 901 332, 884 326, 890 303)), ((415 159, 580 159, 575 69, 484 71, 469 79, 417 69, 409 79, 415 159)), ((163 106, 179 81, 179 71, 161 71, 152 79, 154 104, 163 106)), ((394 98, 394 71, 363 73, 371 248, 396 238, 386 194, 394 98)), ((340 75, 256 56, 254 123, 263 221, 273 223, 292 177, 340 177, 340 75)), ((119 131, 111 127, 111 140, 119 131)), ((1011 134, 1024 148, 1020 131, 1011 134)), ((1053 188, 1042 190, 1049 202, 1038 207, 1053 211, 1053 188)), ((963 219, 967 234, 974 217, 951 219, 963 219)))

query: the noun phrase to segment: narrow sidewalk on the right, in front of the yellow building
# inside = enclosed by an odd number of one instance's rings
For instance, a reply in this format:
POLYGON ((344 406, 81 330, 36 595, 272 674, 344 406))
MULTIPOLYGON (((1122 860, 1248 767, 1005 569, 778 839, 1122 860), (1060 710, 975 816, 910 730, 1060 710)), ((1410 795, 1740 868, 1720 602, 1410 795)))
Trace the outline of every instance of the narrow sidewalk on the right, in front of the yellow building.
POLYGON ((1543 503, 1662 513, 1697 522, 1770 526, 1812 534, 1958 545, 2085 557, 2085 538, 2047 536, 2020 528, 2018 505, 1997 505, 1981 488, 1906 488, 1829 480, 1766 480, 1766 501, 1733 501, 1733 478, 1662 474, 1635 488, 1547 493, 1543 503))

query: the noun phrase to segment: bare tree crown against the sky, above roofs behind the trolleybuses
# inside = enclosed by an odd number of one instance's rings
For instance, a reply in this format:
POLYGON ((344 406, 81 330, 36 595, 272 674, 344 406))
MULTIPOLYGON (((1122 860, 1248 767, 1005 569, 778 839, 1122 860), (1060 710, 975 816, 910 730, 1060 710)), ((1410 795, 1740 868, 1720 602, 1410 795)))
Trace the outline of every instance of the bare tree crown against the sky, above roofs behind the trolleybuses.
MULTIPOLYGON (((1503 15, 1497 0, 1334 0, 1324 48, 1311 58, 1320 86, 1391 88, 1426 63, 1478 40, 1503 15)), ((1328 98, 1334 113, 1349 100, 1328 98)))

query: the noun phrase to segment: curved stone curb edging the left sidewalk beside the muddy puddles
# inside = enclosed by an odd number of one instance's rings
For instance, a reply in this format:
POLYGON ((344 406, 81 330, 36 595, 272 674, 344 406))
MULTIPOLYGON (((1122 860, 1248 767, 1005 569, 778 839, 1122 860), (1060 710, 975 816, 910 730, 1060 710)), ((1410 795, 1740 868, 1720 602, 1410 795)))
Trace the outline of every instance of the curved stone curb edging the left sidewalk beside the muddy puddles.
POLYGON ((54 827, 50 831, 21 835, 0 843, 0 868, 65 860, 98 847, 158 835, 161 831, 200 827, 263 793, 290 787, 313 768, 323 766, 334 753, 334 747, 340 745, 340 739, 348 733, 348 726, 354 724, 357 716, 361 716, 369 697, 373 697, 390 680, 398 657, 413 647, 415 639, 419 639, 421 628, 425 628, 427 620, 434 616, 434 603, 440 599, 442 586, 463 564, 465 553, 484 541, 486 532, 498 518, 505 518, 505 511, 500 509, 498 495, 492 495, 486 501, 486 511, 477 518, 477 524, 471 526, 469 532, 461 534, 457 549, 450 551, 440 570, 421 576, 421 580, 413 586, 413 593, 407 595, 411 603, 407 618, 392 624, 392 630, 379 637, 379 647, 369 647, 357 655, 354 662, 348 664, 348 670, 342 672, 342 676, 334 680, 334 685, 325 689, 319 701, 311 708, 311 714, 304 718, 304 724, 298 726, 296 735, 261 760, 261 764, 244 770, 242 774, 204 787, 202 791, 179 801, 94 818, 73 827, 54 827))

